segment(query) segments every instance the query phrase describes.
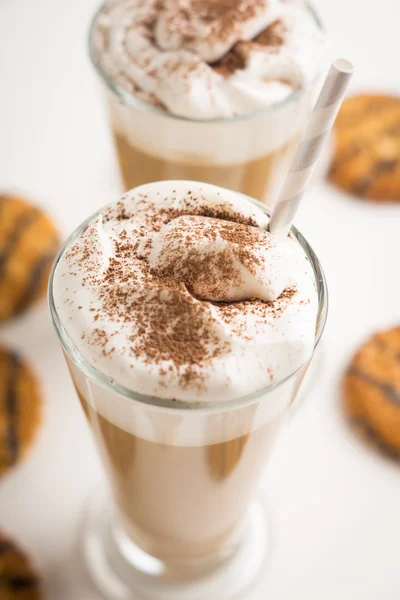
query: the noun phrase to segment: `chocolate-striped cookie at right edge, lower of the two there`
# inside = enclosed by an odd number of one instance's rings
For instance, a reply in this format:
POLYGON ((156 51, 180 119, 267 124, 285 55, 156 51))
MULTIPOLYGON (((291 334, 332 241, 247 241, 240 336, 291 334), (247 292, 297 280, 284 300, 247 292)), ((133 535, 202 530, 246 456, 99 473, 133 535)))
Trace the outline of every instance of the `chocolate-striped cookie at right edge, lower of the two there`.
POLYGON ((354 424, 400 457, 400 327, 358 350, 344 377, 344 403, 354 424))

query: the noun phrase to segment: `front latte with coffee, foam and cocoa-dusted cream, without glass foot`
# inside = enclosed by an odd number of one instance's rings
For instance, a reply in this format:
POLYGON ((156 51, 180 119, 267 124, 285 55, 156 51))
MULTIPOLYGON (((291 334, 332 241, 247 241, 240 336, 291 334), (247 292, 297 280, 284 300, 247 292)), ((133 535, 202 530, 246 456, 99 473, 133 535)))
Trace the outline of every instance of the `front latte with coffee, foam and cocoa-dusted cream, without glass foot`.
POLYGON ((122 526, 185 577, 240 540, 314 348, 312 264, 267 224, 235 192, 149 184, 89 220, 54 272, 122 526))

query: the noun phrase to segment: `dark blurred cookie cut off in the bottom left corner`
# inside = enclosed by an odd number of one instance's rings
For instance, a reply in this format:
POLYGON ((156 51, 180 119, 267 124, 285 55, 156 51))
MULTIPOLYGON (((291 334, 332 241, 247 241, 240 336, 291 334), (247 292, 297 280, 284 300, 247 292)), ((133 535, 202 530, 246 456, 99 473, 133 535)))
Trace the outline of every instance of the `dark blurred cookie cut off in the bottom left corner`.
POLYGON ((25 554, 0 532, 1 600, 40 600, 39 580, 25 554))

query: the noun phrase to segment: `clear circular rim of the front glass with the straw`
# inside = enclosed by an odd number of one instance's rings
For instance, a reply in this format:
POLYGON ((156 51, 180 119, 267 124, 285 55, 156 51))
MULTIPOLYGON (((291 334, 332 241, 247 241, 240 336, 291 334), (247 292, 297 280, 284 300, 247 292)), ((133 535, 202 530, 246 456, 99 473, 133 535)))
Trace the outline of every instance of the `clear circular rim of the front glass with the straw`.
MULTIPOLYGON (((139 186, 140 187, 140 186, 139 186)), ((255 206, 261 208, 268 216, 270 215, 266 206, 264 206, 258 200, 251 198, 250 196, 246 196, 245 194, 241 194, 240 192, 234 192, 242 197, 245 197, 248 201, 250 201, 255 206)), ((119 384, 114 381, 111 377, 105 375, 101 371, 99 371, 96 367, 93 367, 89 361, 82 356, 81 352, 78 350, 69 334, 67 333, 65 327, 61 323, 61 319, 59 318, 57 308, 54 302, 53 296, 53 282, 54 275, 57 268, 57 265, 63 256, 64 252, 67 251, 68 248, 73 245, 78 236, 82 233, 83 229, 102 211, 104 207, 97 210, 93 215, 88 217, 83 223, 81 223, 65 240, 63 245, 61 246, 51 268, 50 276, 49 276, 49 284, 48 284, 48 302, 50 308, 50 314, 52 318, 52 322, 54 328, 56 330, 57 336, 61 343, 61 346, 64 352, 68 355, 69 359, 76 365, 76 367, 90 380, 94 381, 96 384, 101 385, 101 387, 107 389, 110 392, 120 394, 129 398, 130 400, 146 404, 148 406, 156 406, 158 408, 164 409, 173 409, 173 410, 196 410, 200 412, 224 412, 225 410, 231 410, 232 408, 239 408, 246 406, 248 404, 252 404, 253 402, 260 399, 267 393, 270 393, 287 381, 295 377, 309 362, 312 358, 312 354, 310 358, 307 358, 304 363, 302 363, 295 371, 287 375, 283 379, 275 382, 273 385, 262 388, 261 390, 257 390, 240 398, 233 398, 232 400, 223 401, 223 402, 185 402, 183 400, 171 400, 164 398, 156 398, 153 396, 146 396, 139 392, 135 392, 130 390, 129 388, 119 384)), ((298 231, 298 229, 294 226, 291 228, 291 234, 295 237, 295 239, 300 243, 303 248, 308 260, 310 261, 314 276, 315 283, 317 286, 318 292, 318 314, 317 314, 317 324, 316 324, 316 335, 315 335, 315 343, 313 352, 315 351, 318 343, 321 339, 322 333, 325 328, 327 314, 328 314, 328 288, 327 282, 325 278, 325 274, 323 272, 322 266, 318 260, 317 255, 314 250, 307 242, 307 240, 303 237, 303 235, 298 231)))

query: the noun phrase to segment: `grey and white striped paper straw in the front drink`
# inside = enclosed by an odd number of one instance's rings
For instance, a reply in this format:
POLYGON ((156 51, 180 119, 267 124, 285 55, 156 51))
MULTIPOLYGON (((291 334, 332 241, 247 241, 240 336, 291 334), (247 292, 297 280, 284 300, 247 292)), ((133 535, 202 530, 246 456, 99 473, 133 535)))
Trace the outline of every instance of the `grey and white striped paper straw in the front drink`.
POLYGON ((289 233, 352 73, 353 65, 343 58, 339 58, 331 66, 272 212, 268 225, 271 233, 279 236, 289 233))

